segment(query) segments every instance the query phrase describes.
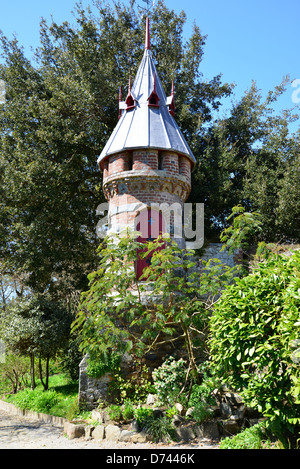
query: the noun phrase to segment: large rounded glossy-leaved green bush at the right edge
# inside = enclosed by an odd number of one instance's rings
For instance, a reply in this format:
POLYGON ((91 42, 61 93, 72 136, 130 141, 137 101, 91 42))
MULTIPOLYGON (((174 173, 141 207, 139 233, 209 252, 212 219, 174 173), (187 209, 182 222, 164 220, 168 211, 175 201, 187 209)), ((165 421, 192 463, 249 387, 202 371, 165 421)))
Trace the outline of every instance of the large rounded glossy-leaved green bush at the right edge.
POLYGON ((299 437, 300 251, 274 255, 228 286, 211 318, 212 368, 273 431, 299 437))

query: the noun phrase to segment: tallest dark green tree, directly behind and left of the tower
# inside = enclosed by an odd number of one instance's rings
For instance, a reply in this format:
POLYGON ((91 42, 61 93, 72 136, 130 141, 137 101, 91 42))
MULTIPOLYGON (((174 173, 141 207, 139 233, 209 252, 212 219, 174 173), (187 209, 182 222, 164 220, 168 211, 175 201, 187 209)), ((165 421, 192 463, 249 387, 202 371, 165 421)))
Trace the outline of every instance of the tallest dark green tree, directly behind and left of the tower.
MULTIPOLYGON (((145 18, 130 6, 77 5, 75 25, 41 22, 30 61, 16 39, 1 36, 0 257, 7 271, 28 274, 36 291, 64 298, 86 285, 96 263, 96 207, 104 200, 100 154, 117 122, 118 89, 127 93, 143 54, 145 18)), ((177 120, 197 149, 202 122, 231 86, 199 72, 205 37, 159 1, 152 49, 166 91, 175 79, 177 120)))

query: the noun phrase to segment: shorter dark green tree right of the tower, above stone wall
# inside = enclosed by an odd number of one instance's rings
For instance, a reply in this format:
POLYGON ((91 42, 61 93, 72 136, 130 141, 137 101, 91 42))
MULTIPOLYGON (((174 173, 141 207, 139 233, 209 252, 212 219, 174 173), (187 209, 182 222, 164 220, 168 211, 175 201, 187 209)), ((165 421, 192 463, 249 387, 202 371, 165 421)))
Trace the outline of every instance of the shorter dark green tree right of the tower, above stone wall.
POLYGON ((289 123, 298 116, 293 109, 276 113, 273 108, 288 83, 284 78, 263 100, 253 82, 229 116, 214 122, 203 135, 190 197, 205 203, 208 239, 218 239, 231 208, 241 204, 249 212, 261 213, 261 240, 299 241, 299 135, 289 133, 289 123), (285 189, 291 174, 296 184, 293 205, 289 203, 293 195, 285 189))

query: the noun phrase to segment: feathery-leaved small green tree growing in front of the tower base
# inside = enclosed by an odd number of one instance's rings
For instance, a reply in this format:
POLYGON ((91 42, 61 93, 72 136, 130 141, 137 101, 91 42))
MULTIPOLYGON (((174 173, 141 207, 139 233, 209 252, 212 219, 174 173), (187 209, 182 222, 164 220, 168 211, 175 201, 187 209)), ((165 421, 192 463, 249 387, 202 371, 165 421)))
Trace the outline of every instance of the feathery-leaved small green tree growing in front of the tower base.
POLYGON ((89 275, 90 288, 82 295, 73 323, 82 351, 94 356, 127 351, 141 359, 173 344, 186 348, 185 384, 189 376, 198 380, 197 360, 206 354, 209 309, 236 270, 207 263, 200 283, 192 251, 161 238, 139 243, 130 232, 107 238, 99 254, 99 268, 89 275), (140 255, 151 257, 144 281, 137 280, 134 267, 140 255))

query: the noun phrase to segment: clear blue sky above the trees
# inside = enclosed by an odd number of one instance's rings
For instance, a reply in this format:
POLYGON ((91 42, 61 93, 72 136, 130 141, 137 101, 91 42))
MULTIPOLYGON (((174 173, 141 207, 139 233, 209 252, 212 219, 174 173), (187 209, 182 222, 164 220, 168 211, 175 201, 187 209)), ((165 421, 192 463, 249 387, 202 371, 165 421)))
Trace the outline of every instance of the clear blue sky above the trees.
MULTIPOLYGON (((0 0, 0 29, 12 38, 16 33, 28 56, 30 46, 39 44, 41 17, 49 22, 70 21, 76 0, 0 0)), ((83 0, 83 6, 92 1, 83 0)), ((125 3, 128 3, 125 1, 125 3)), ((138 2, 144 5, 142 1, 138 2)), ((222 73, 224 82, 235 82, 235 97, 255 80, 265 97, 289 74, 296 88, 289 86, 276 109, 291 108, 300 101, 300 1, 299 0, 165 0, 168 8, 184 10, 188 37, 193 21, 207 35, 204 60, 200 65, 204 79, 222 73), (299 90, 299 93, 298 93, 299 90)), ((142 44, 143 41, 141 41, 142 44)), ((225 102, 223 111, 230 106, 225 102)), ((297 121, 291 130, 300 125, 297 121)))

